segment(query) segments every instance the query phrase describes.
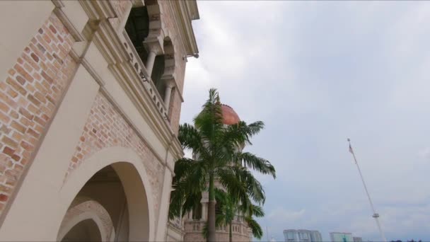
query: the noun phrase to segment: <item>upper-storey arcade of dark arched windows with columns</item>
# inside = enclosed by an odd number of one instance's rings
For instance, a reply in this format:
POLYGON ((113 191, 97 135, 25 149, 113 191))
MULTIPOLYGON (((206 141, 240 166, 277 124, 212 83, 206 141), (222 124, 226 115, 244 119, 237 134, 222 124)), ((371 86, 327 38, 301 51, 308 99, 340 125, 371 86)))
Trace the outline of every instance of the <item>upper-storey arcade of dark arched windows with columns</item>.
POLYGON ((134 68, 142 79, 151 77, 153 83, 152 88, 149 88, 151 97, 161 112, 163 113, 165 110, 165 115, 170 117, 168 116, 170 97, 175 95, 173 42, 168 36, 160 41, 163 31, 161 30, 161 9, 158 1, 145 0, 136 1, 136 3, 139 5, 135 5, 131 9, 125 24, 125 32, 128 35, 129 44, 132 44, 136 50, 131 57, 139 56, 136 59, 141 60, 140 66, 143 64, 146 74, 139 72, 138 62, 134 64, 134 68), (156 95, 157 93, 158 95, 156 95))

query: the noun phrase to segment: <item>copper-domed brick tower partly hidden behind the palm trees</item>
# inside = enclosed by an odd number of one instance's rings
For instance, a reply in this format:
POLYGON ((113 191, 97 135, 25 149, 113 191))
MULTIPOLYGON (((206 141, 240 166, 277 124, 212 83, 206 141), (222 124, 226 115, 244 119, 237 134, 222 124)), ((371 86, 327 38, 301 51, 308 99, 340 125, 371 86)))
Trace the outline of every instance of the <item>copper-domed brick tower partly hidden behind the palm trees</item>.
MULTIPOLYGON (((222 105, 223 124, 233 125, 240 121, 238 114, 228 105, 222 105)), ((222 185, 215 181, 216 188, 222 185)), ((168 241, 206 241, 203 228, 207 224, 207 209, 209 205, 209 192, 203 192, 198 207, 184 217, 170 221, 168 227, 168 241)), ((216 228, 216 241, 229 241, 230 229, 228 226, 216 228)), ((252 241, 252 233, 240 214, 236 214, 232 222, 233 241, 252 241)))

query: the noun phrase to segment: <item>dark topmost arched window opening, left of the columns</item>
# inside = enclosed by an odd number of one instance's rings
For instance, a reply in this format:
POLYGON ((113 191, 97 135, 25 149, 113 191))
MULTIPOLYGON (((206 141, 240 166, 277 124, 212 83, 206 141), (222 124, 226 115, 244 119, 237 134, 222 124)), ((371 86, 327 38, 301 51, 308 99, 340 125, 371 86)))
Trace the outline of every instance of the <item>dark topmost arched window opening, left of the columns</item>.
POLYGON ((142 62, 146 63, 148 52, 145 50, 144 40, 149 35, 149 14, 146 6, 132 8, 125 24, 125 30, 142 62))

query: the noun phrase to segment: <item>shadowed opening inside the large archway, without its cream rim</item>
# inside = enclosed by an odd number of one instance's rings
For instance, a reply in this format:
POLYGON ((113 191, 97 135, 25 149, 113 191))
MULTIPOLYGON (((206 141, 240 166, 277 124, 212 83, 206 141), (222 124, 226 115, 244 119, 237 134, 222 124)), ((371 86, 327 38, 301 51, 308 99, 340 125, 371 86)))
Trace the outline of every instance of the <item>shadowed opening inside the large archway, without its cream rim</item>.
POLYGON ((150 221, 146 191, 139 172, 132 163, 112 163, 95 172, 87 180, 71 201, 57 240, 61 240, 63 234, 69 234, 72 230, 74 231, 71 235, 82 236, 64 236, 64 239, 88 239, 88 236, 83 236, 84 228, 89 228, 86 231, 94 229, 88 225, 88 221, 76 227, 77 229, 68 229, 71 225, 77 226, 76 221, 82 218, 95 218, 93 220, 101 228, 100 241, 149 241, 150 221))

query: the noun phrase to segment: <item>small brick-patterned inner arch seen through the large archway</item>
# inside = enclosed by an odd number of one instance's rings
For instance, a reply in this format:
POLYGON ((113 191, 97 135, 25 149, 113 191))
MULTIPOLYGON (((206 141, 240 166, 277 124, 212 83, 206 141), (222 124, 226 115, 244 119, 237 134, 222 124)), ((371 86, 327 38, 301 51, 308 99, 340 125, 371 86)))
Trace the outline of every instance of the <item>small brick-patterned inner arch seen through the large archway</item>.
MULTIPOLYGON (((86 212, 93 212, 100 219, 100 221, 102 221, 102 226, 106 232, 105 238, 102 238, 102 241, 110 241, 110 235, 115 229, 112 220, 110 219, 108 211, 106 211, 102 204, 94 200, 81 202, 76 206, 69 208, 66 212, 66 215, 64 215, 64 219, 62 221, 62 225, 60 226, 59 231, 62 231, 64 226, 67 226, 67 224, 69 224, 72 219, 79 217, 81 214, 84 214, 86 212)), ((67 233, 68 231, 62 232, 67 233)))

